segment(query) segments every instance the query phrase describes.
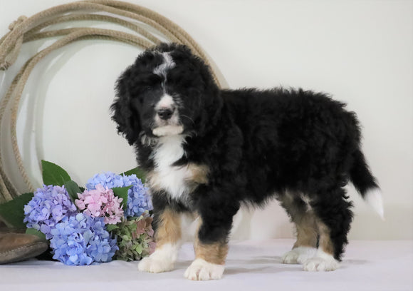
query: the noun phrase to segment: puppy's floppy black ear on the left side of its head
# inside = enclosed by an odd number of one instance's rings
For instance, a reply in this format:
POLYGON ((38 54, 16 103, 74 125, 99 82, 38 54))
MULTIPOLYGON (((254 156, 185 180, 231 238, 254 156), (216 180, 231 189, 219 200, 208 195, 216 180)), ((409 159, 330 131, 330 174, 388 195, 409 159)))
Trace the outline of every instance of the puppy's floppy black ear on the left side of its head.
POLYGON ((138 141, 141 131, 140 116, 136 108, 132 104, 132 96, 130 95, 130 68, 128 68, 116 82, 116 98, 110 110, 112 111, 112 119, 117 123, 117 132, 127 139, 127 142, 132 145, 138 141))

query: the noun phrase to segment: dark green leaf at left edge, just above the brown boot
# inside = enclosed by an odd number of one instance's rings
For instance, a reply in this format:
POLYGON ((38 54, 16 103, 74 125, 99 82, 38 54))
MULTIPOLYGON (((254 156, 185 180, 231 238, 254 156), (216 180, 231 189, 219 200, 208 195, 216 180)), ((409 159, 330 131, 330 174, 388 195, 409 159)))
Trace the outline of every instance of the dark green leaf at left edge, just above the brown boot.
POLYGON ((23 223, 23 208, 31 198, 33 198, 33 193, 24 193, 9 202, 0 204, 1 220, 3 220, 9 228, 26 228, 26 223, 23 223))

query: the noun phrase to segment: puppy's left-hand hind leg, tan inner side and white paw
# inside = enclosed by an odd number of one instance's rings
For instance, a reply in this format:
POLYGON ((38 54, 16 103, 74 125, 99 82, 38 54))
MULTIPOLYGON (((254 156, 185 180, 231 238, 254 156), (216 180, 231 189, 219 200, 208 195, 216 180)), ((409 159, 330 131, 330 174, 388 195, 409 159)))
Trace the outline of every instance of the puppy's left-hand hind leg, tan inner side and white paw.
POLYGON ((297 240, 293 249, 282 257, 284 264, 303 264, 317 252, 318 228, 315 215, 308 204, 305 195, 286 193, 281 200, 281 205, 286 208, 288 215, 296 225, 297 240))

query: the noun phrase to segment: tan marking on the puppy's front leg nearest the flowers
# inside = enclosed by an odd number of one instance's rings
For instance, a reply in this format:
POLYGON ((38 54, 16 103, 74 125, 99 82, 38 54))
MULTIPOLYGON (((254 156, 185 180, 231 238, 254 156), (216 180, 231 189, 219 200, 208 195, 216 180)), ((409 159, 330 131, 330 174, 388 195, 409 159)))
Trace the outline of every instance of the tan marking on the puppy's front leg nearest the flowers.
POLYGON ((182 237, 181 218, 172 210, 164 210, 160 215, 160 222, 155 233, 157 247, 165 243, 177 243, 182 237))

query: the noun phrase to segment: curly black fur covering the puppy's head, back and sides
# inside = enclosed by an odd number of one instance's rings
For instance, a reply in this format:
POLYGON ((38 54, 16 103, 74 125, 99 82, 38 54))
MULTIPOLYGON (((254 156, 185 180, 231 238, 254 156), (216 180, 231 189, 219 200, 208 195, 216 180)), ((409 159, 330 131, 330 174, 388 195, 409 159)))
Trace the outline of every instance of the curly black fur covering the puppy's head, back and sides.
POLYGON ((330 229, 334 256, 340 259, 352 220, 343 187, 352 180, 362 195, 377 188, 360 150, 355 113, 325 93, 303 89, 220 90, 209 67, 189 48, 162 44, 122 73, 112 106, 118 131, 135 146, 137 162, 148 173, 156 166, 153 108, 165 92, 181 103, 184 155, 174 166, 206 165, 209 174, 208 183, 185 200, 152 190, 155 215, 164 208, 198 213, 199 240, 225 242, 241 203, 262 206, 287 192, 297 198, 304 193, 330 229), (162 77, 153 71, 165 52, 175 66, 162 77), (143 142, 143 136, 152 142, 143 142))

